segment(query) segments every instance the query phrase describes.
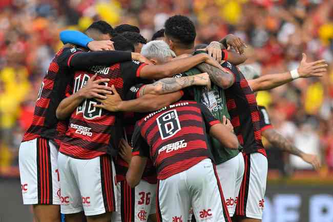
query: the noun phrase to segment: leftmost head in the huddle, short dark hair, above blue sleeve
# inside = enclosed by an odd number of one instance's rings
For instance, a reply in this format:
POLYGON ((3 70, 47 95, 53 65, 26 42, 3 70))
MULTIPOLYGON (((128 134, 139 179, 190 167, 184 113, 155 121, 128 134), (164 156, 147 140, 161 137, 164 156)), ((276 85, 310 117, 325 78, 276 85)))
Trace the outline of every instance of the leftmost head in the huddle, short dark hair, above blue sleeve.
POLYGON ((85 33, 96 41, 109 40, 114 36, 114 30, 105 21, 97 21, 91 24, 85 33))

